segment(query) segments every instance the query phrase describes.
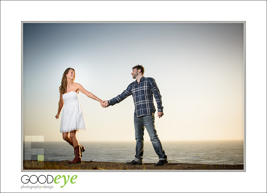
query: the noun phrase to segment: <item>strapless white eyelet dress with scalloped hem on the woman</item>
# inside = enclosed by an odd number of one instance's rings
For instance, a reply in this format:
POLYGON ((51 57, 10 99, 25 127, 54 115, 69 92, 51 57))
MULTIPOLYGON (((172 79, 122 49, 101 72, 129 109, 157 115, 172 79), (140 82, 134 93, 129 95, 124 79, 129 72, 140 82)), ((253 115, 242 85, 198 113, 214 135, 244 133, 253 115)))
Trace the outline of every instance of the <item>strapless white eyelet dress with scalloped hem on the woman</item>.
POLYGON ((82 107, 79 102, 79 94, 70 91, 62 95, 64 106, 61 115, 60 133, 73 130, 86 130, 86 124, 82 107))

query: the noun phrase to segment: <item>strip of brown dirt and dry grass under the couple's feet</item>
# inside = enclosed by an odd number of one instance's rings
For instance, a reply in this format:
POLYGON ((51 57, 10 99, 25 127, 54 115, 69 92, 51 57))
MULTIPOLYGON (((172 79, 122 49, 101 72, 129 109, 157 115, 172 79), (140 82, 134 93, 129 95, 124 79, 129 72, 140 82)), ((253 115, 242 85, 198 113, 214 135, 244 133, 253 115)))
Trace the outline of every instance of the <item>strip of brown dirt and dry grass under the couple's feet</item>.
POLYGON ((244 164, 196 164, 168 163, 154 166, 155 163, 127 165, 126 163, 82 161, 80 164, 68 164, 66 161, 23 160, 23 170, 244 170, 244 164))

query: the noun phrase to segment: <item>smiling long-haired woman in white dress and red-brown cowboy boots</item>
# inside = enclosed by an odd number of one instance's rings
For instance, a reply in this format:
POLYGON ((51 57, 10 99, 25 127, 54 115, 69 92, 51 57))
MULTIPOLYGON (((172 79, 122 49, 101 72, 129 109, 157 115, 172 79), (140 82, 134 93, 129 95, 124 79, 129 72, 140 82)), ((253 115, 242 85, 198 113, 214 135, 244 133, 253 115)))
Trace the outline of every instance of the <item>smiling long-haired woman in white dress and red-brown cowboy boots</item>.
POLYGON ((74 160, 68 161, 68 163, 81 163, 82 152, 85 151, 85 148, 79 144, 76 133, 86 130, 86 124, 82 107, 79 103, 79 91, 91 99, 100 102, 103 108, 108 106, 108 104, 85 90, 82 85, 75 83, 74 79, 75 70, 73 68, 67 68, 63 73, 61 86, 59 87, 60 99, 58 102, 58 114, 55 118, 59 118, 60 111, 64 104, 61 115, 60 132, 63 134, 63 139, 74 147, 75 155, 74 160))

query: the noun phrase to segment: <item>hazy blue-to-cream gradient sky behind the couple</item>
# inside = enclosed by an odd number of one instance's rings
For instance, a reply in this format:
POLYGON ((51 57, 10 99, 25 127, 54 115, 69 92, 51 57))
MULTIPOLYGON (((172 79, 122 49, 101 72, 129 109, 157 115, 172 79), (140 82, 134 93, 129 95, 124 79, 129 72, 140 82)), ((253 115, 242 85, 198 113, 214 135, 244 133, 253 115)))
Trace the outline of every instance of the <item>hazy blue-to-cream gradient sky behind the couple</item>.
MULTIPOLYGON (((135 65, 160 90, 161 141, 244 139, 242 22, 24 22, 23 136, 63 140, 55 115, 66 68, 75 69, 75 82, 109 100, 135 81, 135 65)), ((79 96, 87 125, 79 141, 135 140, 132 96, 105 109, 79 96)))

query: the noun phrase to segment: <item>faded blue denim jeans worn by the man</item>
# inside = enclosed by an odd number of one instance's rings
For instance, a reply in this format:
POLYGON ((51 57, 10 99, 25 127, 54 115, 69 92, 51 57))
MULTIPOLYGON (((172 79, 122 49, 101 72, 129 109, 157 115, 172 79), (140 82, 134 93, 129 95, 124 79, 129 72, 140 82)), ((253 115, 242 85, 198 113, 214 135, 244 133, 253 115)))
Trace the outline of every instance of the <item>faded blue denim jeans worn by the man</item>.
POLYGON ((162 144, 158 138, 157 131, 155 129, 155 115, 146 115, 142 117, 136 117, 134 115, 134 130, 135 130, 135 140, 136 140, 136 162, 143 162, 144 154, 144 128, 147 128, 147 132, 150 136, 150 141, 154 147, 159 160, 167 160, 167 156, 162 148, 162 144))

